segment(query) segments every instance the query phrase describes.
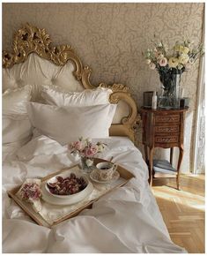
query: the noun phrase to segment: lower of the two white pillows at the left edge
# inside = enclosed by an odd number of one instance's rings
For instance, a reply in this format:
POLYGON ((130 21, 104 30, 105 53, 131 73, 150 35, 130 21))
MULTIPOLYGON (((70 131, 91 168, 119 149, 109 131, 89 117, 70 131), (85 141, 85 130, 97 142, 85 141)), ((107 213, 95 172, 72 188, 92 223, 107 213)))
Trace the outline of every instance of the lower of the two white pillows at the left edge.
POLYGON ((31 139, 32 125, 27 115, 3 116, 3 144, 20 143, 24 145, 31 139))

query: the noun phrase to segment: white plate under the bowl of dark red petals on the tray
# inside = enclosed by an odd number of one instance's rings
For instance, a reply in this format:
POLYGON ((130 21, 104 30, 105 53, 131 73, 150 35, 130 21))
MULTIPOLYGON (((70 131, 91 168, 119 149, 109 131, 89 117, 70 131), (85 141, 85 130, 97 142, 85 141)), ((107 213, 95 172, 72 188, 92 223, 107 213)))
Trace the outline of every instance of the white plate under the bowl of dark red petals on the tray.
MULTIPOLYGON (((77 177, 80 177, 80 176, 84 177, 83 175, 78 175, 75 171, 69 171, 69 172, 65 171, 63 174, 60 174, 59 176, 68 177, 71 172, 75 173, 77 177)), ((48 181, 42 183, 41 184, 42 200, 45 200, 49 204, 60 205, 60 206, 73 205, 78 203, 81 200, 85 200, 85 198, 92 193, 93 186, 87 177, 84 177, 84 178, 87 180, 87 186, 85 187, 85 189, 81 192, 78 192, 69 196, 56 197, 54 194, 52 194, 46 189, 48 181)))

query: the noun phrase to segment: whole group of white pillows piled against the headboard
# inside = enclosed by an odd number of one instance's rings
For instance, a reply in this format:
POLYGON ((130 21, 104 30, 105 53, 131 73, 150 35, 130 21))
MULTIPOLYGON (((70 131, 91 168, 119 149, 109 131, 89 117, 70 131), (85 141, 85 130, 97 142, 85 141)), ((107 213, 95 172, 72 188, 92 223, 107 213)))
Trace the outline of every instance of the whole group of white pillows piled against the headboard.
POLYGON ((3 94, 3 144, 24 145, 33 127, 62 145, 80 136, 107 138, 115 115, 108 102, 110 89, 98 87, 81 93, 65 93, 54 86, 43 87, 44 103, 30 102, 32 86, 7 90, 3 94))

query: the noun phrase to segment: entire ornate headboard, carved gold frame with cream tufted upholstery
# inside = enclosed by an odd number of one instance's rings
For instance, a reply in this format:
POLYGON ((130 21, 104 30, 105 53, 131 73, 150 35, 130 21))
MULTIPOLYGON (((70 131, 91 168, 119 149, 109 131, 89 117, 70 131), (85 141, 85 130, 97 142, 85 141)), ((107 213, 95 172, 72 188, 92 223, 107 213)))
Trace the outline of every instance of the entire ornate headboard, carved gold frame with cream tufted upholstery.
MULTIPOLYGON (((3 90, 33 85, 38 97, 42 85, 55 85, 64 91, 78 92, 95 88, 90 82, 91 70, 84 67, 69 45, 51 48, 44 29, 26 24, 14 36, 13 52, 3 52, 3 90)), ((106 85, 113 90, 111 103, 117 103, 110 135, 128 136, 134 140, 137 106, 129 88, 121 84, 106 85)))

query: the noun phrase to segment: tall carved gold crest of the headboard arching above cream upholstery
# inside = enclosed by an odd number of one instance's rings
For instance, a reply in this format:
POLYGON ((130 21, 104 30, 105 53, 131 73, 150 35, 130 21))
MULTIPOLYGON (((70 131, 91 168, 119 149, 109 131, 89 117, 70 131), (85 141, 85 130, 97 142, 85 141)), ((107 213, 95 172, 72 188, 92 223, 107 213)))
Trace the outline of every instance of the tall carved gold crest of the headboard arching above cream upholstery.
POLYGON ((56 65, 64 65, 70 60, 75 66, 73 74, 76 79, 81 80, 85 88, 92 88, 89 81, 92 71, 88 67, 83 67, 70 45, 52 47, 51 43, 45 29, 27 23, 14 35, 12 52, 3 51, 3 67, 11 68, 14 64, 25 62, 32 52, 56 65))

